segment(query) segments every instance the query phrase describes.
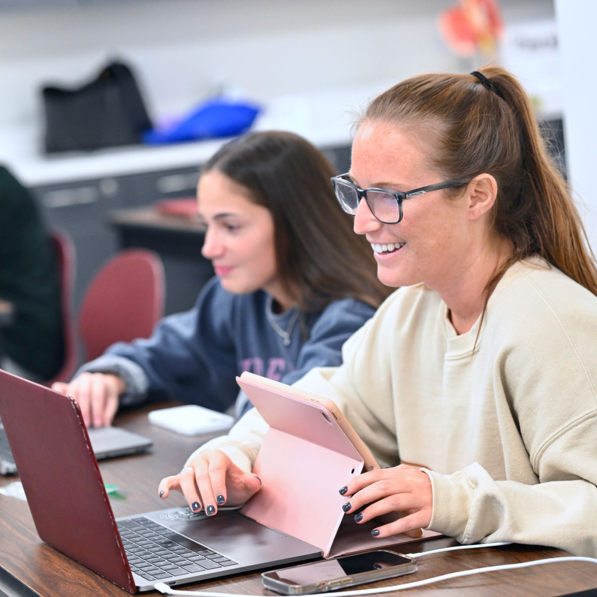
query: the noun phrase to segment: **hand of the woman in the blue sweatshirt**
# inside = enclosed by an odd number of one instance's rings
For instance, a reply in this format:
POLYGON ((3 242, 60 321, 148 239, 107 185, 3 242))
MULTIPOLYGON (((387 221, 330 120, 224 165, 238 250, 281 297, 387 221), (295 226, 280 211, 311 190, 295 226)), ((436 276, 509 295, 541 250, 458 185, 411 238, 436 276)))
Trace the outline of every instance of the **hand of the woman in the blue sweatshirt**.
POLYGON ((118 410, 118 396, 126 389, 125 381, 112 373, 82 373, 70 383, 55 381, 52 389, 72 396, 81 408, 85 426, 108 426, 118 410))

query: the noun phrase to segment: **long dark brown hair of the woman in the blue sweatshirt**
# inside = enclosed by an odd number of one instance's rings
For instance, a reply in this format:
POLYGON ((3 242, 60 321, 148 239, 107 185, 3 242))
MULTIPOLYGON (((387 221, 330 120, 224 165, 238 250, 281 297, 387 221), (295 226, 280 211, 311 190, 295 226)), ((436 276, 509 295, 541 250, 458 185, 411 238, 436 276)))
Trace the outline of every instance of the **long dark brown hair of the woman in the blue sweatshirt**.
POLYGON ((247 134, 221 147, 203 172, 210 170, 240 184, 272 214, 278 276, 301 309, 347 297, 378 307, 392 291, 378 281, 370 245, 338 205, 330 182, 336 173, 302 137, 247 134))

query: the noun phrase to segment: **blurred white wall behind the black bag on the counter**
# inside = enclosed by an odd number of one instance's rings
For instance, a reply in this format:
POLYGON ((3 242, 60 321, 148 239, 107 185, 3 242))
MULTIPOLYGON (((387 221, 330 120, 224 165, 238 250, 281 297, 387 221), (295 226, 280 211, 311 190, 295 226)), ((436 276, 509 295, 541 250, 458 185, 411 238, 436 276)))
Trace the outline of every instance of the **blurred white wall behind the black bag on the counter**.
MULTIPOLYGON (((435 27, 455 1, 131 0, 0 13, 0 126, 38 121, 42 82, 78 84, 110 56, 137 68, 156 116, 222 82, 268 100, 466 69, 435 27)), ((501 6, 507 22, 553 16, 552 0, 501 6)))

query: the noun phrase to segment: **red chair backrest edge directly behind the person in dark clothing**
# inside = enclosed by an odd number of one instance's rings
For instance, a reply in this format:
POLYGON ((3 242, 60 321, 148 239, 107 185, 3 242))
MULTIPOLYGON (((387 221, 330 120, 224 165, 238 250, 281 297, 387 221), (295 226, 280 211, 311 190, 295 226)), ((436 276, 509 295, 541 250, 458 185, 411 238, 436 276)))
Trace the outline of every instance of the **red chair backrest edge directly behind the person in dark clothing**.
POLYGON ((56 264, 60 275, 60 294, 62 303, 62 325, 64 335, 64 363, 60 371, 45 382, 50 386, 54 381, 69 381, 75 373, 77 349, 75 323, 72 314, 72 294, 75 285, 75 246, 64 232, 56 230, 50 234, 50 240, 56 252, 56 264))

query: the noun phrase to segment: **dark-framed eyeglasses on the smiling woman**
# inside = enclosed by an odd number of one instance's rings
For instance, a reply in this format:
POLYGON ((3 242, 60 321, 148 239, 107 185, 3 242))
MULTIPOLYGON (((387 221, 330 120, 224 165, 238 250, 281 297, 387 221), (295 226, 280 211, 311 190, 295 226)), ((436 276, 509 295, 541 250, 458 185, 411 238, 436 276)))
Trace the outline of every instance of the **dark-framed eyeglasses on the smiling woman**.
POLYGON ((398 224, 402 220, 402 201, 417 195, 424 195, 433 190, 450 189, 467 184, 462 180, 448 180, 444 183, 429 184, 406 192, 388 189, 359 189, 348 173, 333 176, 331 179, 340 207, 347 214, 354 216, 359 202, 364 198, 371 213, 382 224, 398 224))

